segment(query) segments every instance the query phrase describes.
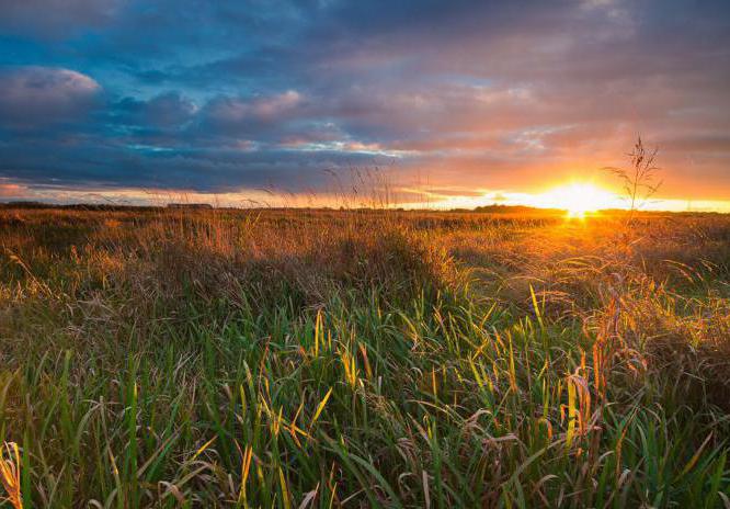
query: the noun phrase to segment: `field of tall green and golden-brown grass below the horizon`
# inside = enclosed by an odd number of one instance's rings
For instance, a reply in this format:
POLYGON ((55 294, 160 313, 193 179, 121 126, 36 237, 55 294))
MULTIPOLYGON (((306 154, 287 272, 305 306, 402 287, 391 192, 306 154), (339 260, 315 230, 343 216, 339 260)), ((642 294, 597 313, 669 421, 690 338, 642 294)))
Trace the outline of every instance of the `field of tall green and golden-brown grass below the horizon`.
POLYGON ((0 211, 4 483, 26 508, 730 507, 730 217, 625 219, 0 211))

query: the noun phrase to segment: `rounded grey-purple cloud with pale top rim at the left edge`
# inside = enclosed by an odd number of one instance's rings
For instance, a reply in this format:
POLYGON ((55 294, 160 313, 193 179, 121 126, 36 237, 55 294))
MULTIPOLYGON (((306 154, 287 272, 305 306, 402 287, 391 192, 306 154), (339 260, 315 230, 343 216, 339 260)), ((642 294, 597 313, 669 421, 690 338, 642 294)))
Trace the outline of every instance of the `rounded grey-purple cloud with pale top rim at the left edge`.
POLYGON ((101 87, 70 69, 21 67, 0 70, 0 126, 31 127, 78 118, 101 87))

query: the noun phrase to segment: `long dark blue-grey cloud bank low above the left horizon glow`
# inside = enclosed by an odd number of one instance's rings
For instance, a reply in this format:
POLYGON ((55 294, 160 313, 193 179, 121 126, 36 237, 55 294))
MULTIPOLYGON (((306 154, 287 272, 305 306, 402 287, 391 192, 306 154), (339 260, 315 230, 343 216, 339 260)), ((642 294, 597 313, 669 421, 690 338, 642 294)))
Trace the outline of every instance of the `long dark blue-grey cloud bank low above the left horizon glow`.
POLYGON ((363 154, 317 150, 303 158, 297 150, 195 149, 168 150, 157 146, 103 146, 94 140, 68 146, 26 143, 22 149, 0 145, 7 174, 23 184, 65 184, 79 188, 189 189, 230 192, 272 188, 301 192, 322 188, 334 169, 373 163, 363 154), (82 154, 83 157, 79 157, 82 154), (113 160, 114 165, 109 161, 113 160))

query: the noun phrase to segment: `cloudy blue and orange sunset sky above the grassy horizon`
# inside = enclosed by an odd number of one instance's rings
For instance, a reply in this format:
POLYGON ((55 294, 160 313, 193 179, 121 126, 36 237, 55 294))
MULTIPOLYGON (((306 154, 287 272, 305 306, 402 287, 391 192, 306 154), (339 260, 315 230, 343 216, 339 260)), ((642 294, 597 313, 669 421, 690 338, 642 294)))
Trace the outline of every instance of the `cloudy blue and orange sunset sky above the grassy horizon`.
POLYGON ((727 0, 0 0, 0 202, 730 211, 727 0))

